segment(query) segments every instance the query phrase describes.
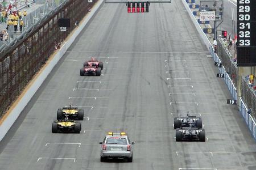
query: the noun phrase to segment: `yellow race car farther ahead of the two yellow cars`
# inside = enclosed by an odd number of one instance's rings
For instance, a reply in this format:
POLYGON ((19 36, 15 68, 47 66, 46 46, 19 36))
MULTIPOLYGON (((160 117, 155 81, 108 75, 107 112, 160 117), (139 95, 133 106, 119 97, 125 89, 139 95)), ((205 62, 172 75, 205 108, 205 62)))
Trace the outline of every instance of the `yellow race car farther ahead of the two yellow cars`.
POLYGON ((78 109, 77 107, 59 108, 57 111, 57 120, 61 120, 65 117, 68 117, 72 120, 84 120, 84 110, 78 109))

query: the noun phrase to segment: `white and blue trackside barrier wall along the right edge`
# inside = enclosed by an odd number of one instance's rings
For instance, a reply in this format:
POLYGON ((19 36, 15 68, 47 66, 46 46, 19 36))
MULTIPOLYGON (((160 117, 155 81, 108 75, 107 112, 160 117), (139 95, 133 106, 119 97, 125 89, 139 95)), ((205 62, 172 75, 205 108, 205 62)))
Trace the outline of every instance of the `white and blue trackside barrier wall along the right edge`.
MULTIPOLYGON (((185 6, 186 10, 188 11, 188 14, 189 14, 190 18, 192 19, 192 22, 194 23, 197 31, 199 32, 201 39, 203 40, 204 44, 207 46, 213 60, 221 63, 220 58, 218 57, 218 55, 216 53, 214 53, 212 44, 210 44, 210 41, 208 40, 207 36, 203 32, 203 29, 200 27, 199 23, 197 22, 195 16, 193 15, 191 9, 189 8, 189 6, 187 4, 187 2, 185 0, 182 0, 182 2, 183 2, 183 5, 185 6)), ((246 125, 248 126, 254 140, 256 141, 256 123, 253 120, 253 117, 251 117, 251 115, 247 113, 248 109, 246 108, 245 103, 243 103, 243 100, 241 99, 241 97, 237 97, 237 89, 234 86, 232 80, 230 79, 229 74, 226 73, 225 67, 218 67, 218 70, 220 71, 220 73, 224 74, 224 81, 225 81, 226 85, 228 86, 229 92, 233 96, 233 99, 237 100, 241 116, 243 117, 243 120, 246 122, 246 125)))

